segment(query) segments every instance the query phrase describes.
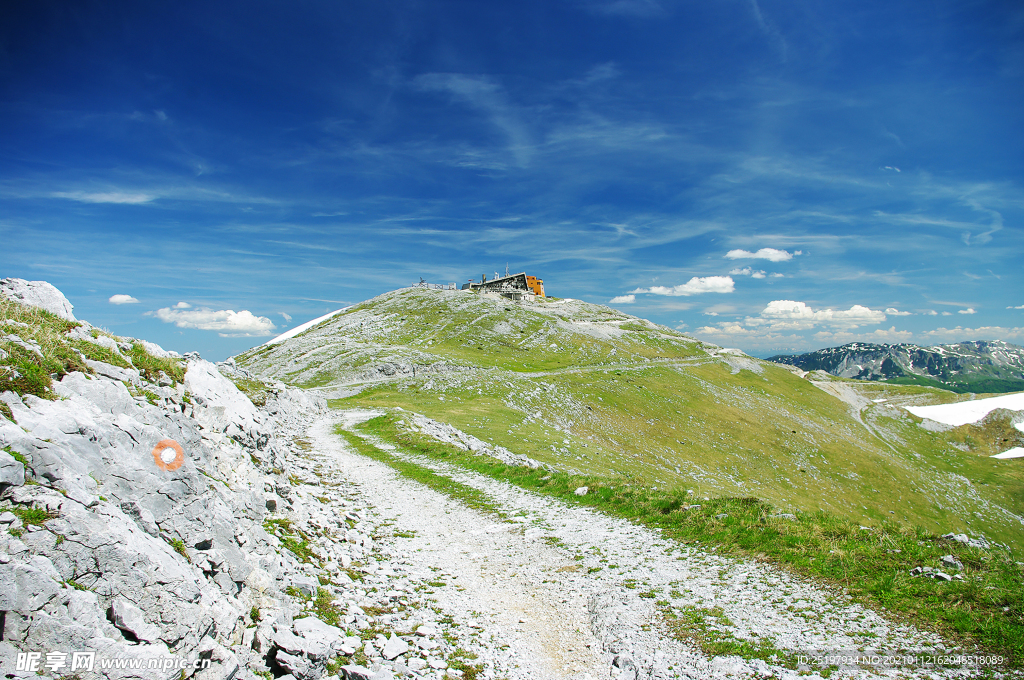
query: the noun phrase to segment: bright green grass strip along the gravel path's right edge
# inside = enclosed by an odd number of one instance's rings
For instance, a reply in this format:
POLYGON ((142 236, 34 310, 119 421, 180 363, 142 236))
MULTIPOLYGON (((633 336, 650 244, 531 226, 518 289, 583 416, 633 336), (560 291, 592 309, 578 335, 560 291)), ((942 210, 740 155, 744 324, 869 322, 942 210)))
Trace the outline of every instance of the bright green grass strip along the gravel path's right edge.
MULTIPOLYGON (((970 548, 895 523, 863 530, 826 512, 797 513, 795 519, 788 519, 758 499, 718 498, 692 506, 684 490, 653 490, 626 479, 508 466, 410 433, 396 415, 381 416, 358 427, 399 450, 637 521, 684 543, 699 542, 728 554, 764 559, 803 577, 841 586, 867 606, 938 630, 964 644, 976 643, 1000 653, 1014 668, 1024 666, 1024 571, 1008 551, 970 548), (584 485, 590 493, 575 496, 574 490, 584 485), (721 517, 723 514, 727 516, 721 517), (909 576, 914 566, 940 567, 939 558, 946 554, 964 563, 965 581, 909 576)), ((372 447, 360 442, 360 453, 372 447)), ((373 457, 384 460, 387 455, 374 449, 373 457)), ((385 460, 392 467, 394 461, 389 456, 385 460)), ((441 477, 413 463, 401 465, 412 474, 441 477)))

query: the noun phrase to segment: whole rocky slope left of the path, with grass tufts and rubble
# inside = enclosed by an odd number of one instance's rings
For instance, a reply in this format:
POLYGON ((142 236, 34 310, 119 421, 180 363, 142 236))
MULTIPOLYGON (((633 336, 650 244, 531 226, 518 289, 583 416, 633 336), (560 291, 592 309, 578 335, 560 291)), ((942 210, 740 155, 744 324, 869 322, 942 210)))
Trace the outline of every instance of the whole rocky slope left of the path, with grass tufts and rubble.
POLYGON ((436 576, 375 541, 359 490, 311 453, 323 398, 4 284, 22 294, 0 296, 3 677, 381 680, 473 648, 421 596, 436 576))

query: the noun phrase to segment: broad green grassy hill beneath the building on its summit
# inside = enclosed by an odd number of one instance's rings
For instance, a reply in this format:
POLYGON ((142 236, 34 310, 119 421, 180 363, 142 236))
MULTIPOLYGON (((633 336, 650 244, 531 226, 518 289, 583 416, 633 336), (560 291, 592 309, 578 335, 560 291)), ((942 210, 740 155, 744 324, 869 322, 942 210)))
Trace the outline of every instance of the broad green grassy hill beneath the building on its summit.
POLYGON ((928 430, 899 407, 965 396, 801 377, 601 305, 403 289, 237 360, 567 471, 1024 547, 1024 466, 988 458, 1009 419, 928 430))

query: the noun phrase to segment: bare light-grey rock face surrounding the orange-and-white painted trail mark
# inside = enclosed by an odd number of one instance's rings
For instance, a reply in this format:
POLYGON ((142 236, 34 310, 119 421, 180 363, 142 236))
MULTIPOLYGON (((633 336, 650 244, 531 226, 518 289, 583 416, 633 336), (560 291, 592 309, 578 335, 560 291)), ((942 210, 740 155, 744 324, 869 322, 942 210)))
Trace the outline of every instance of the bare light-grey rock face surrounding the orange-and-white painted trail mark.
POLYGON ((185 390, 128 374, 109 365, 71 373, 55 401, 0 394, 14 417, 0 416, 0 505, 11 520, 0 520, 5 674, 17 651, 73 649, 209 660, 199 677, 222 680, 240 668, 229 647, 253 607, 272 615, 289 606, 283 591, 302 570, 263 528, 266 490, 283 482, 289 437, 326 403, 271 388, 257 409, 198 358, 185 390), (177 469, 156 464, 163 439, 185 453, 177 469))

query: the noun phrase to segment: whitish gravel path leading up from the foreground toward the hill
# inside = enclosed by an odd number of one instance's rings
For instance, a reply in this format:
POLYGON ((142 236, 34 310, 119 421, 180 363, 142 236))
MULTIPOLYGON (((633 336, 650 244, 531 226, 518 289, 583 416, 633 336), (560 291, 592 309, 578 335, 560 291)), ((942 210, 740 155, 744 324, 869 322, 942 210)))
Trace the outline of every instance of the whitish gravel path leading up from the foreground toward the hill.
MULTIPOLYGON (((813 673, 759 658, 709 657, 668 635, 666 617, 700 621, 720 639, 753 647, 770 643, 790 654, 947 650, 934 635, 893 625, 842 593, 785 571, 684 546, 629 521, 461 468, 394 454, 483 492, 509 519, 469 509, 355 454, 334 433, 338 422, 351 428, 373 415, 335 412, 316 422, 309 431, 313 454, 334 462, 343 477, 358 484, 377 520, 393 524, 392 551, 408 555, 415 576, 433 575, 435 583, 445 583, 433 595, 435 605, 452 617, 453 631, 479 654, 490 677, 633 680, 813 673)), ((833 677, 859 677, 864 670, 851 667, 833 677)), ((891 677, 959 673, 912 666, 871 670, 891 677)))

